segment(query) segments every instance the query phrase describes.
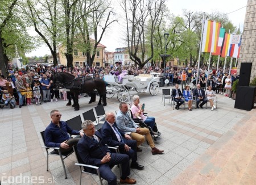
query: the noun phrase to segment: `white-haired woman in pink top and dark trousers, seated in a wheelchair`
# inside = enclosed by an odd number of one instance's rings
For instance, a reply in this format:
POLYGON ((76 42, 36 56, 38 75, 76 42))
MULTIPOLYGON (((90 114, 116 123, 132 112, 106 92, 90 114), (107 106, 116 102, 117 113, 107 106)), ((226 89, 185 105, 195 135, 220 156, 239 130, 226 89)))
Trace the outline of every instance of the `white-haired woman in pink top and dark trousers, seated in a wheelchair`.
POLYGON ((139 104, 139 96, 133 96, 133 106, 131 106, 131 112, 134 119, 141 119, 148 127, 152 129, 154 135, 160 136, 160 132, 156 127, 155 117, 145 116, 144 115, 144 103, 139 104))

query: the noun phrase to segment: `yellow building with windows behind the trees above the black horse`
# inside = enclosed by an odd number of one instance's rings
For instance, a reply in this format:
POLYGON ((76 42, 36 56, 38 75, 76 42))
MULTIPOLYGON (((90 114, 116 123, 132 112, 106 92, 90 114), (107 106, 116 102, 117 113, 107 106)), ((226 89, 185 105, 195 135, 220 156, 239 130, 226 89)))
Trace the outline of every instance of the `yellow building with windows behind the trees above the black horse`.
MULTIPOLYGON (((94 42, 93 39, 91 39, 92 42, 94 42)), ((105 66, 105 45, 98 44, 96 49, 96 55, 94 57, 93 66, 105 66)), ((64 47, 63 44, 59 45, 59 61, 60 64, 67 65, 67 58, 65 57, 65 52, 67 51, 67 48, 64 47)), ((80 66, 84 67, 87 64, 86 62, 86 52, 85 51, 79 51, 78 49, 73 49, 73 66, 80 66)))

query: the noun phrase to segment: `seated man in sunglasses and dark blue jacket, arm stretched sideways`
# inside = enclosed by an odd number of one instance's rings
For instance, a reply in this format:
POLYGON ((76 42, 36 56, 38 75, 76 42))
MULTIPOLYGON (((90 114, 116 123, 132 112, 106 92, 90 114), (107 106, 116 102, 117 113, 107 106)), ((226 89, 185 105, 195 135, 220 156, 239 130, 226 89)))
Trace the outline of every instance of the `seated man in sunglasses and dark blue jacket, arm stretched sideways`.
POLYGON ((80 134, 81 137, 84 136, 84 133, 71 129, 66 121, 60 121, 61 114, 58 110, 52 110, 50 114, 52 121, 44 132, 46 146, 60 148, 61 153, 72 150, 72 146, 77 144, 80 137, 71 138, 68 133, 71 135, 80 134))

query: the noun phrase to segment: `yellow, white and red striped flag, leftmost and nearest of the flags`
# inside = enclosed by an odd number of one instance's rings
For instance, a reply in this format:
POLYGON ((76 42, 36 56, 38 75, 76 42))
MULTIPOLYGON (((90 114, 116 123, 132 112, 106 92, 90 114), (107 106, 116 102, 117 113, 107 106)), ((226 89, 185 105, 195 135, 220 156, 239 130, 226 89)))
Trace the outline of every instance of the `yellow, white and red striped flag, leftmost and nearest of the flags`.
POLYGON ((202 41, 202 52, 216 52, 218 37, 220 35, 220 26, 220 23, 213 22, 212 20, 205 20, 202 41))

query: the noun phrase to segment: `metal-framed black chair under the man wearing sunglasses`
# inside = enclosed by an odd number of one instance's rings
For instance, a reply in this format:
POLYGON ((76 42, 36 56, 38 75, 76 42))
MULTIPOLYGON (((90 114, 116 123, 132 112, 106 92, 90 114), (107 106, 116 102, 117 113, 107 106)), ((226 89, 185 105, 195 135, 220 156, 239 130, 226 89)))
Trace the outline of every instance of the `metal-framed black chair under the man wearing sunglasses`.
POLYGON ((42 131, 40 132, 41 134, 41 137, 42 137, 42 140, 44 142, 44 146, 42 146, 43 148, 46 149, 46 153, 47 153, 47 166, 46 166, 46 171, 48 171, 48 163, 49 163, 49 155, 55 155, 55 156, 59 156, 60 157, 60 160, 61 160, 61 163, 62 163, 62 166, 63 166, 63 169, 64 169, 64 174, 65 174, 65 179, 67 179, 67 172, 66 172, 66 169, 65 169, 65 164, 64 164, 64 159, 67 158, 69 155, 71 155, 74 151, 73 150, 70 150, 69 152, 66 152, 66 153, 61 153, 60 152, 60 148, 50 148, 50 147, 47 147, 46 146, 46 140, 44 138, 44 132, 45 131, 42 131), (50 152, 48 150, 51 150, 50 152))

